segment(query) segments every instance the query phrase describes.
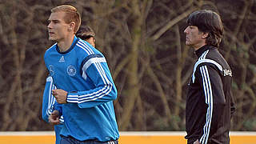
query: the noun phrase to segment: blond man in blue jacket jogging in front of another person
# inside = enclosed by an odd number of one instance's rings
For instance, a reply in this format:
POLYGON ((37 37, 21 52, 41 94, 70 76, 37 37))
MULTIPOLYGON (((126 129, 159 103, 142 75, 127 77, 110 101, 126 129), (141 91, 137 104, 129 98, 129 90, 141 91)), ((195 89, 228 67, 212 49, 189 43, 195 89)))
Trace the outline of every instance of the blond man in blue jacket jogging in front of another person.
POLYGON ((63 115, 60 143, 118 143, 117 89, 106 58, 75 36, 81 18, 74 6, 54 7, 48 22, 49 39, 56 43, 44 58, 57 101, 49 122, 57 125, 63 115))

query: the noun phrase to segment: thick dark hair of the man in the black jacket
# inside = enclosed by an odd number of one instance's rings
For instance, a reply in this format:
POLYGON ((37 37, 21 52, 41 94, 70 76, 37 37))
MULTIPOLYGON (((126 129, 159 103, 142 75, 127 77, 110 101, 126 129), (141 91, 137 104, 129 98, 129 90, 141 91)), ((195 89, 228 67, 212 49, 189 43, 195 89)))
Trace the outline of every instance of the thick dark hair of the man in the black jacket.
POLYGON ((208 33, 206 44, 219 46, 222 42, 224 28, 220 16, 212 10, 197 10, 190 14, 186 23, 197 26, 199 32, 208 33))

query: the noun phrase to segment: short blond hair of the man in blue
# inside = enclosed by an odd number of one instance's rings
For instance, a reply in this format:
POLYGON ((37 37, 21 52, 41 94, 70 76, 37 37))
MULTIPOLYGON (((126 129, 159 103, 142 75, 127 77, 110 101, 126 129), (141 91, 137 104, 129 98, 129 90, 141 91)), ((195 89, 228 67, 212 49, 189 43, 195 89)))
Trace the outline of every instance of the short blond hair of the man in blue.
POLYGON ((61 5, 56 6, 53 9, 50 10, 52 13, 63 11, 66 13, 64 17, 64 21, 66 23, 74 22, 74 34, 76 34, 79 30, 79 27, 81 25, 81 16, 78 13, 78 10, 74 6, 70 5, 61 5))

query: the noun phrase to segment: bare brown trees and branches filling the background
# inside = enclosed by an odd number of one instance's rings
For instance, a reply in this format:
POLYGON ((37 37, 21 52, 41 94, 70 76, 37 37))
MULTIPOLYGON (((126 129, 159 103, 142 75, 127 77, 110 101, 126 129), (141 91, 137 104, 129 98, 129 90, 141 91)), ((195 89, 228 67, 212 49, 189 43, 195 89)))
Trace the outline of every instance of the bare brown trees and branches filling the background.
POLYGON ((50 8, 71 4, 96 32, 118 99, 120 130, 185 130, 186 84, 195 57, 185 46, 186 17, 211 9, 222 16, 220 51, 233 70, 233 130, 256 130, 256 3, 206 0, 78 0, 0 2, 0 130, 51 130, 42 122, 44 51, 50 8), (42 128, 43 126, 43 128, 42 128))

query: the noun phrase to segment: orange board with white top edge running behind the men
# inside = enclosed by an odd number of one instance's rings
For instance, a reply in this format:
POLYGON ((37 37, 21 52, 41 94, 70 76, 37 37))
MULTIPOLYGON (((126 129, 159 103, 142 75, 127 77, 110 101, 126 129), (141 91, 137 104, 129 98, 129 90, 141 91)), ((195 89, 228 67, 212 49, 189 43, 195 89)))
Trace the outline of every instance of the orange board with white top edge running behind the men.
MULTIPOLYGON (((185 132, 120 132, 120 144, 186 144, 185 132)), ((54 144, 54 131, 0 132, 0 144, 54 144)), ((256 144, 256 132, 230 132, 230 144, 256 144)))

